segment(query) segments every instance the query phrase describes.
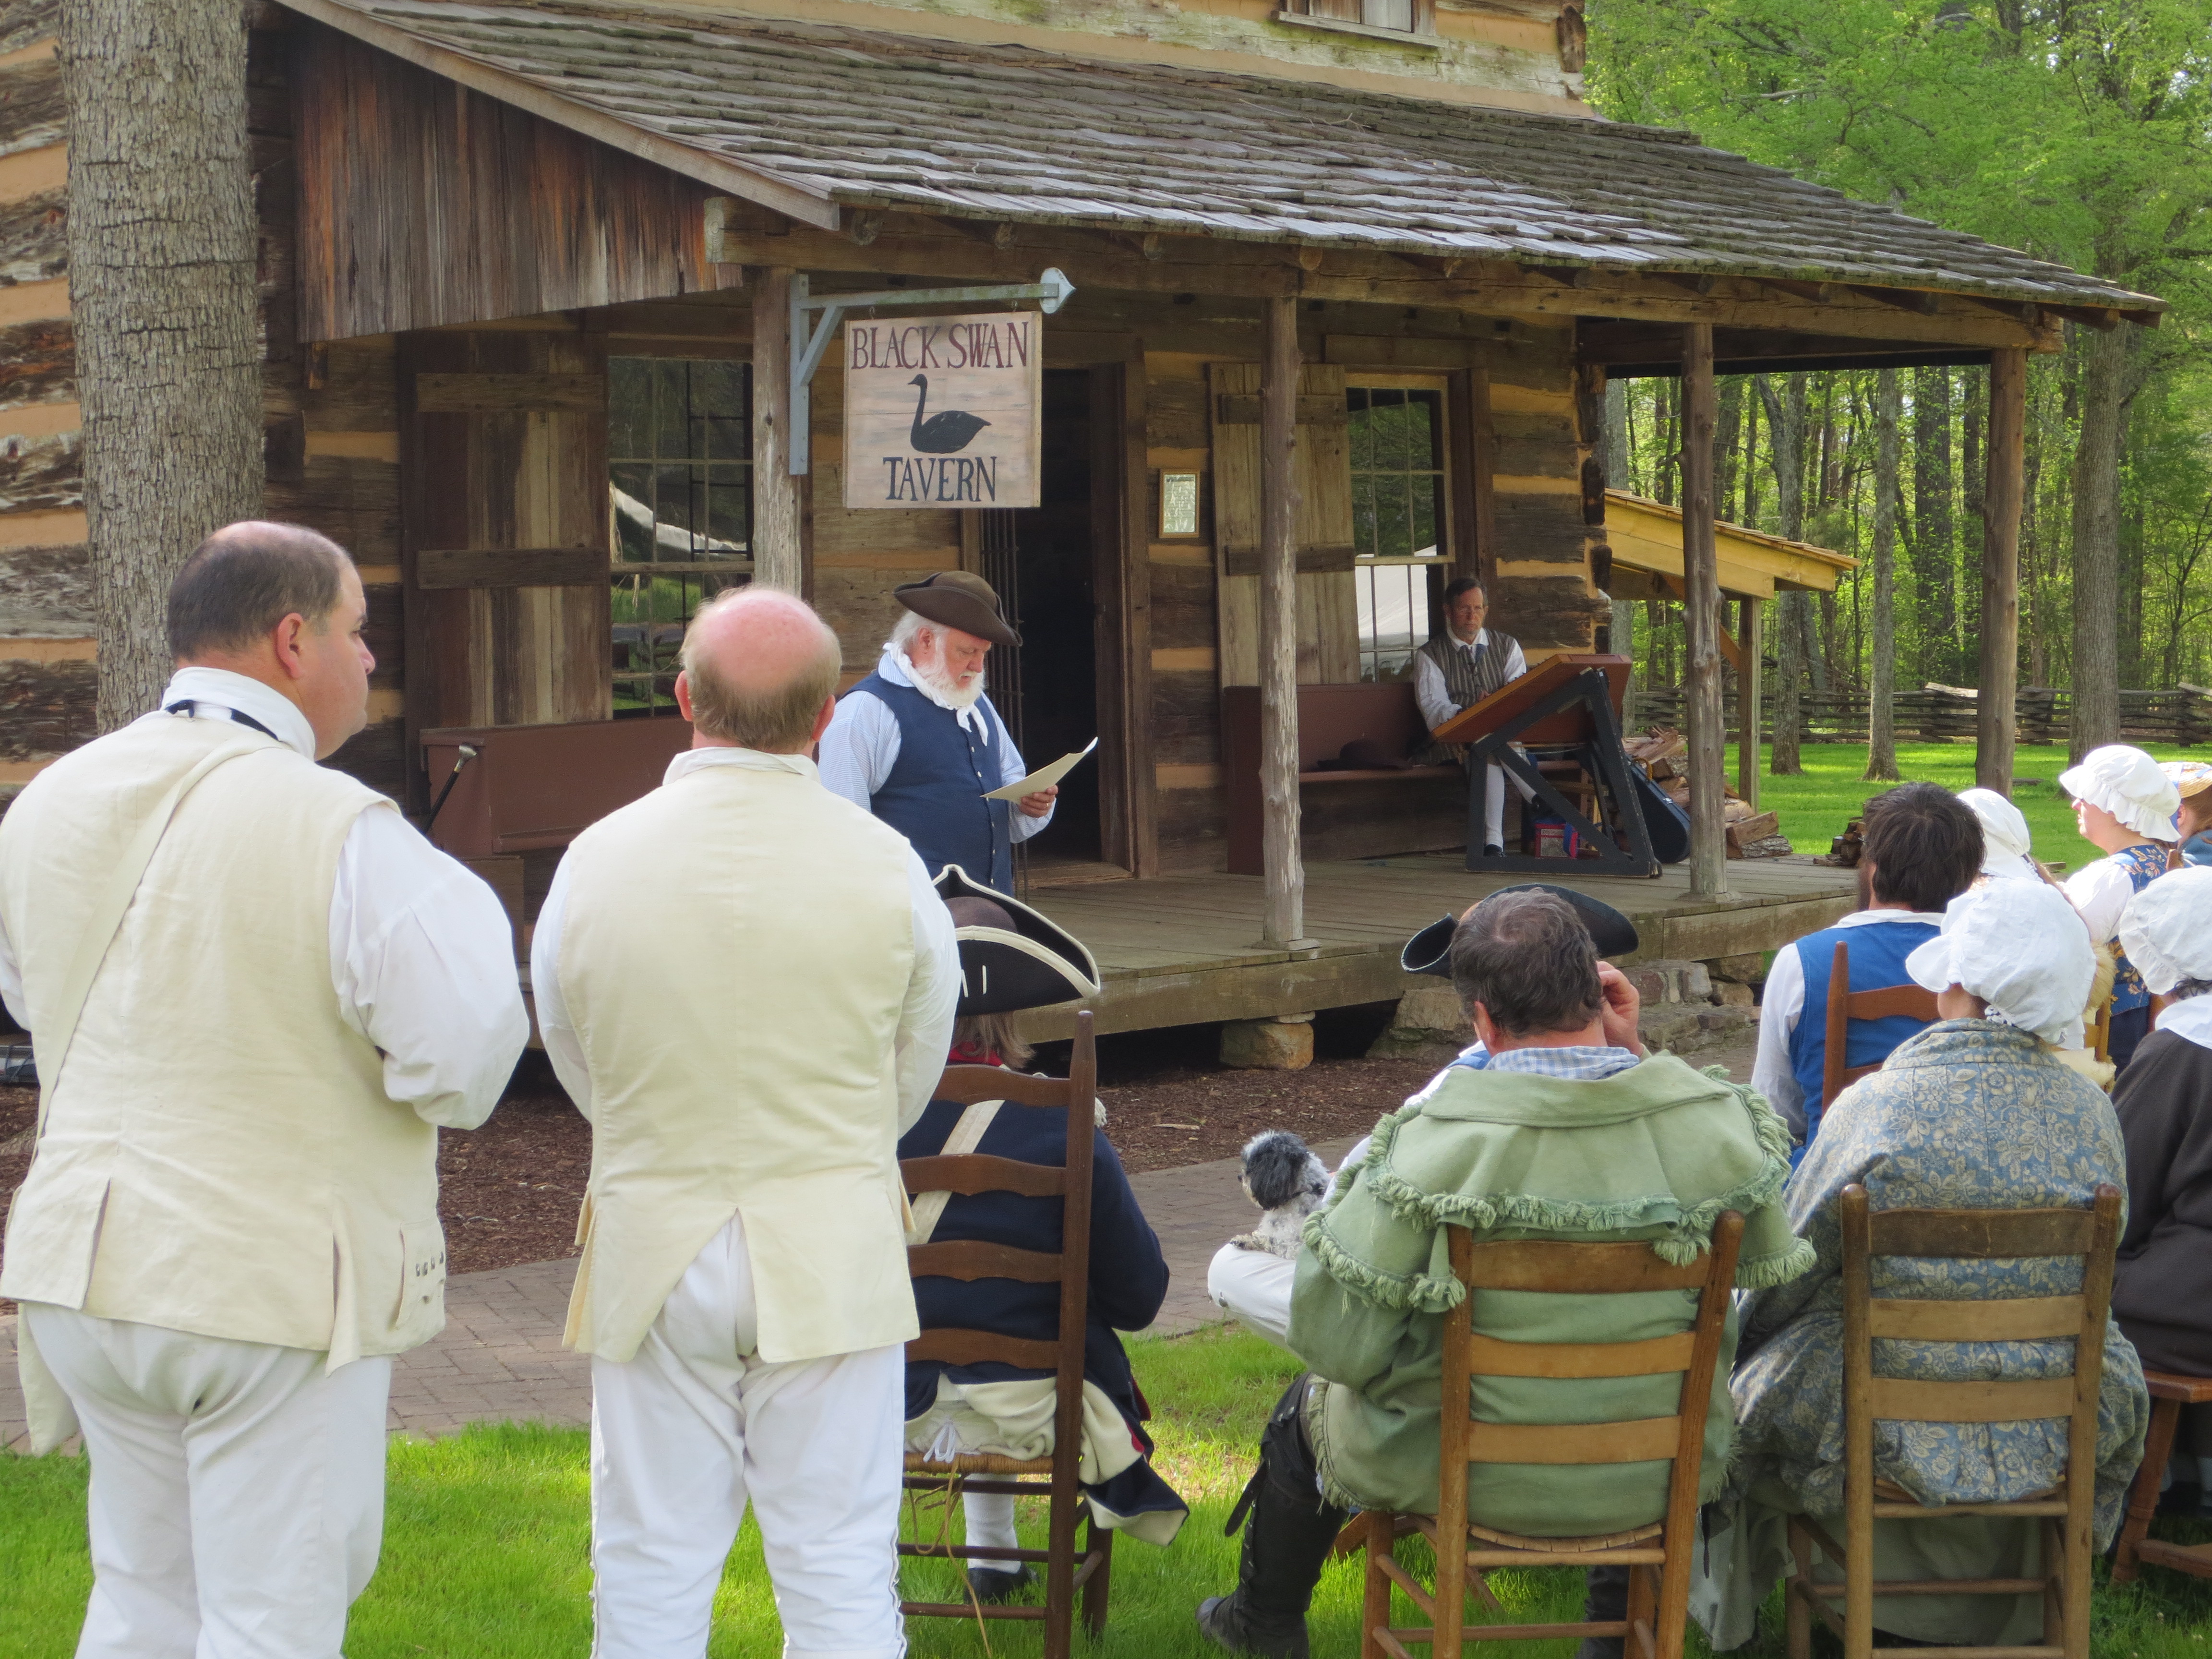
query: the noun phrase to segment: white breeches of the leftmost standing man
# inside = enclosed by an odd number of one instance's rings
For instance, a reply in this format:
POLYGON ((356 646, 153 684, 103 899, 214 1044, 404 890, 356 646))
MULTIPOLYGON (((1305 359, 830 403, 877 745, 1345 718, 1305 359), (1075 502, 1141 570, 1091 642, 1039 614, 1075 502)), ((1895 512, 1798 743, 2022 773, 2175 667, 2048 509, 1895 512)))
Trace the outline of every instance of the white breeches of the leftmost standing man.
POLYGON ((392 1360, 22 1318, 93 1460, 77 1659, 338 1659, 383 1540, 392 1360))

